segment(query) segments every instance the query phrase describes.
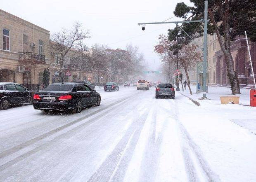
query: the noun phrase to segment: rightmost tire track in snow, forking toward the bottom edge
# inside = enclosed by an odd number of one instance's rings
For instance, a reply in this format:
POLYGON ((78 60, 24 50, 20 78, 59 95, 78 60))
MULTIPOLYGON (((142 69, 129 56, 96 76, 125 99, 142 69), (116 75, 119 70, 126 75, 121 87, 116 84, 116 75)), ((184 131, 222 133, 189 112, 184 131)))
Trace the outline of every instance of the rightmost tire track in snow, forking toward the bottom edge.
MULTIPOLYGON (((175 104, 176 107, 174 107, 173 119, 178 124, 178 127, 179 127, 178 129, 180 130, 180 133, 183 136, 183 141, 185 142, 185 144, 188 147, 190 147, 189 149, 187 149, 185 147, 185 145, 183 144, 183 156, 185 159, 185 166, 187 169, 189 181, 192 181, 192 182, 199 181, 199 178, 198 178, 197 171, 194 167, 193 161, 192 161, 191 156, 188 151, 193 152, 193 154, 197 157, 198 164, 199 164, 201 170, 204 172, 204 175, 207 178, 207 181, 209 181, 209 182, 220 181, 218 175, 216 175, 213 172, 213 170, 211 170, 209 164, 204 159, 204 156, 203 156, 202 152, 200 151, 200 147, 191 139, 190 134, 187 132, 187 130, 185 129, 183 124, 180 122, 180 119, 178 117, 178 115, 179 115, 178 101, 175 100, 175 103, 176 103, 175 104)), ((186 104, 186 103, 183 103, 183 104, 186 104)), ((182 142, 182 143, 184 143, 184 142, 182 142)))

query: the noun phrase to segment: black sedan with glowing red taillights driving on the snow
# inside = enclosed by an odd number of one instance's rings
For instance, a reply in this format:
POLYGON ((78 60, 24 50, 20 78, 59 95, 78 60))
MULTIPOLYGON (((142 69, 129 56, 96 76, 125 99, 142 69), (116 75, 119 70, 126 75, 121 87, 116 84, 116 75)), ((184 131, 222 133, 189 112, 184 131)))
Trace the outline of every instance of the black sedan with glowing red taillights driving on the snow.
POLYGON ((81 83, 50 84, 33 96, 33 107, 42 111, 81 112, 84 107, 100 105, 100 93, 81 83))

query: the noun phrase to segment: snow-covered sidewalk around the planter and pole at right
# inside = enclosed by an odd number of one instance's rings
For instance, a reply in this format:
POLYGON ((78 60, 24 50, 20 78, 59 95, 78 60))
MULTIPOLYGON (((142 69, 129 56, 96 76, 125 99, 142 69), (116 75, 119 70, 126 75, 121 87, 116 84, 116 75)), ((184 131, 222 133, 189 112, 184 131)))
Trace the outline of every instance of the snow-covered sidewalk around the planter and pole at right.
MULTIPOLYGON (((182 88, 180 87, 182 90, 182 88)), ((239 96, 239 105, 227 104, 222 105, 220 103, 220 96, 232 96, 231 90, 228 87, 209 86, 209 93, 206 94, 209 100, 199 100, 202 97, 202 93, 195 93, 196 86, 191 86, 192 96, 189 89, 180 91, 181 94, 192 98, 200 103, 199 107, 204 108, 209 112, 215 112, 215 114, 221 114, 223 118, 228 119, 249 131, 256 133, 256 107, 250 107, 250 90, 241 89, 242 94, 239 96)))

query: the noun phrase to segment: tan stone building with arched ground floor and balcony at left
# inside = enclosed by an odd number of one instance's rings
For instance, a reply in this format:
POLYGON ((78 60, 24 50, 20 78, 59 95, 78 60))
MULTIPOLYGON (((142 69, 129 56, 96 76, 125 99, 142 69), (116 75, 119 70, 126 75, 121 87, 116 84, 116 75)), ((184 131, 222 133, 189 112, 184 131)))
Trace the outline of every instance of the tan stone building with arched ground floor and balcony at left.
MULTIPOLYGON (((0 9, 0 82, 17 82, 28 89, 42 88, 43 70, 50 68, 50 83, 58 81, 58 55, 50 48, 50 32, 0 9)), ((65 62, 68 69, 69 60, 65 62)), ((75 81, 78 69, 71 69, 67 82, 75 81)), ((92 71, 81 79, 94 82, 92 71)))

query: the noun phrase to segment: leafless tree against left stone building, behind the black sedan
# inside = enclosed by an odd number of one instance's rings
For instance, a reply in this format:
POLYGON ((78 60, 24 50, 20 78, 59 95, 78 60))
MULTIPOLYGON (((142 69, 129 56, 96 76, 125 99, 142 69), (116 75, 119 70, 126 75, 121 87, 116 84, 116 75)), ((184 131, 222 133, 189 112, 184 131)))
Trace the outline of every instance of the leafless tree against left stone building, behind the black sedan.
POLYGON ((66 55, 70 51, 71 48, 74 47, 74 44, 85 38, 88 38, 89 31, 84 31, 82 28, 82 24, 75 22, 73 27, 70 30, 62 28, 62 30, 58 33, 54 33, 51 36, 51 42, 49 44, 50 49, 54 51, 55 54, 58 55, 59 61, 59 76, 61 81, 63 81, 63 65, 66 58, 66 55))

